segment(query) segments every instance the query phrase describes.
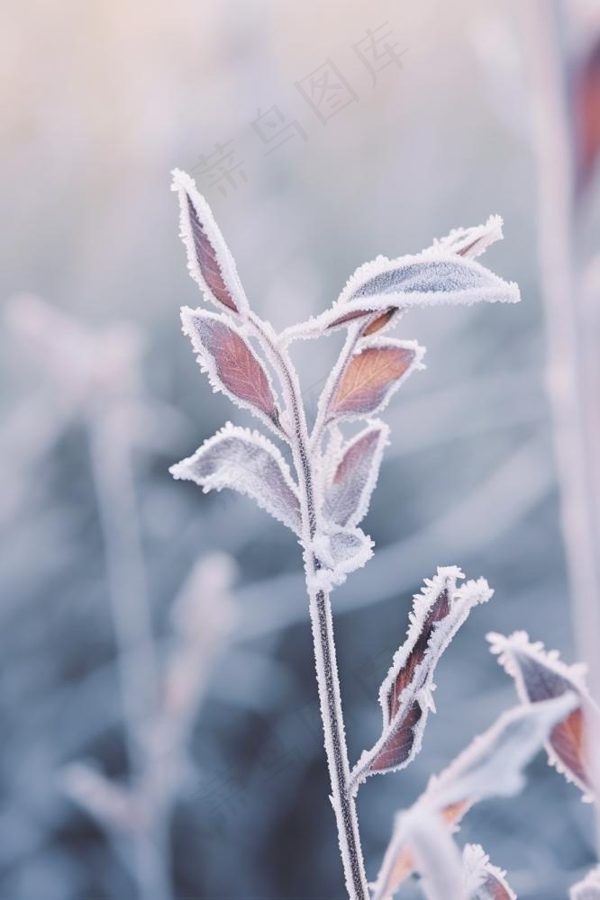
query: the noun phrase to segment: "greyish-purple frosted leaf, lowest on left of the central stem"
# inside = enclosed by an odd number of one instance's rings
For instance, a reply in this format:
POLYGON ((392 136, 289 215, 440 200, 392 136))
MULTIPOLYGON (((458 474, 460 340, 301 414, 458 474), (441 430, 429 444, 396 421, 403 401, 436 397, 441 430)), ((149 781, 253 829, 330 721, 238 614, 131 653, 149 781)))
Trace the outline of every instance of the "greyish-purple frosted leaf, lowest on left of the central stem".
POLYGON ((177 479, 199 484, 205 492, 240 491, 300 534, 300 501, 286 461, 277 447, 256 431, 228 423, 169 472, 177 479))

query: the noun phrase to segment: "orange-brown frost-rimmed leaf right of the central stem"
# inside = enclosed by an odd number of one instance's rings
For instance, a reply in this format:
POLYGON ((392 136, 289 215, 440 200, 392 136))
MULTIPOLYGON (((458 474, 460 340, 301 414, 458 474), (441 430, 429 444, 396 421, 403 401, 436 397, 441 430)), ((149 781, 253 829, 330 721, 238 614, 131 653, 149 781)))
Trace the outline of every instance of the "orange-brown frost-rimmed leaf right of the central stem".
POLYGON ((327 410, 327 421, 361 419, 382 410, 414 369, 424 350, 414 341, 368 338, 350 357, 327 410))

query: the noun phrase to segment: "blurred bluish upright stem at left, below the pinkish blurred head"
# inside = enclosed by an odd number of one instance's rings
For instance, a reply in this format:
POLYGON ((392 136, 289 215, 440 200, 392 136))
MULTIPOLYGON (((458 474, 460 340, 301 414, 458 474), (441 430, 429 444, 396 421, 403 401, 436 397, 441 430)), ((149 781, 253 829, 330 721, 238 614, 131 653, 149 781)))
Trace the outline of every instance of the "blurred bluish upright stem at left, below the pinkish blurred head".
MULTIPOLYGON (((143 739, 158 697, 158 676, 150 624, 141 537, 133 489, 130 448, 123 423, 111 413, 91 424, 95 491, 105 542, 123 719, 132 783, 141 783, 147 757, 143 739)), ((170 900, 168 840, 162 815, 148 811, 132 835, 135 875, 141 900, 170 900)))

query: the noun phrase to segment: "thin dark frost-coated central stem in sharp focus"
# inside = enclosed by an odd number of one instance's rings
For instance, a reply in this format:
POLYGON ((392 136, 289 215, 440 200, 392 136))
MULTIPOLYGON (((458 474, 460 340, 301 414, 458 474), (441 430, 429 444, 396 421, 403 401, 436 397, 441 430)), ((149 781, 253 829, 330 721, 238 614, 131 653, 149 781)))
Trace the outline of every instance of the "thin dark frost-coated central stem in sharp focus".
MULTIPOLYGON (((271 364, 277 370, 284 389, 286 407, 293 428, 292 434, 289 436, 290 446, 303 495, 305 543, 310 545, 317 533, 318 517, 314 500, 313 462, 309 450, 305 410, 300 399, 300 387, 294 366, 286 351, 276 346, 268 329, 258 317, 250 314, 250 322, 265 348, 271 364)), ((311 588, 312 576, 318 567, 319 561, 314 553, 306 547, 305 572, 313 627, 314 661, 341 861, 350 900, 368 900, 367 875, 360 848, 359 821, 356 803, 350 791, 350 766, 341 709, 332 607, 329 594, 323 590, 314 591, 311 588)))

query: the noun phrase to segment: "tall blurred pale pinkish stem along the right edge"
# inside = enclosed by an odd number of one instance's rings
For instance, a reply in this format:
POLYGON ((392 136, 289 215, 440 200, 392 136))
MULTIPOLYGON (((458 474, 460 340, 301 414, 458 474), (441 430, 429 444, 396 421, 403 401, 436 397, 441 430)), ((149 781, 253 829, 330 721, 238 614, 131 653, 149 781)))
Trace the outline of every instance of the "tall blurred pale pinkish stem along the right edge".
MULTIPOLYGON (((539 166, 539 240, 548 336, 547 386, 559 463, 562 530, 568 557, 577 654, 600 699, 600 509, 594 448, 595 401, 586 377, 586 320, 574 254, 574 166, 567 84, 559 48, 559 4, 532 4, 530 49, 536 90, 539 166), (595 489, 595 490, 594 490, 595 489)), ((597 741, 597 736, 596 736, 597 741)), ((597 746, 597 743, 596 743, 597 746)), ((595 752, 595 757, 598 757, 595 752)), ((598 773, 596 772, 596 779, 598 773)), ((596 805, 600 856, 600 805, 596 805)))

